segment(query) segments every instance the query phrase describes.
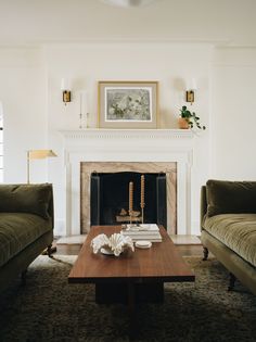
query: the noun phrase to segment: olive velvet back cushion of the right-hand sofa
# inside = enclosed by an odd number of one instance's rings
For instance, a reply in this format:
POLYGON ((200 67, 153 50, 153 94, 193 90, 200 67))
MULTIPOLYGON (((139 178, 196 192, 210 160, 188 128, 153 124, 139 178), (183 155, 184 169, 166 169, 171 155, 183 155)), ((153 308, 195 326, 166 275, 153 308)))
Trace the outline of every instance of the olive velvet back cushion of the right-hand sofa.
POLYGON ((256 213, 256 181, 208 180, 207 216, 256 213))

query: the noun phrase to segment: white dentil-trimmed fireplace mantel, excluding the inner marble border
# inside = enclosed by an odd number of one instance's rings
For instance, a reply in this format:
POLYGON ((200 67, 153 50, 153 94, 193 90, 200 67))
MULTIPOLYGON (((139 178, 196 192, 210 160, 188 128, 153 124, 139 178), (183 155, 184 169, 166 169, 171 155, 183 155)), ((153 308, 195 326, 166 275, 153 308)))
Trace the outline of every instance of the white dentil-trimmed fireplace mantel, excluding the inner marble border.
POLYGON ((80 162, 176 162, 177 232, 191 232, 193 132, 182 129, 62 130, 66 235, 80 233, 80 162))

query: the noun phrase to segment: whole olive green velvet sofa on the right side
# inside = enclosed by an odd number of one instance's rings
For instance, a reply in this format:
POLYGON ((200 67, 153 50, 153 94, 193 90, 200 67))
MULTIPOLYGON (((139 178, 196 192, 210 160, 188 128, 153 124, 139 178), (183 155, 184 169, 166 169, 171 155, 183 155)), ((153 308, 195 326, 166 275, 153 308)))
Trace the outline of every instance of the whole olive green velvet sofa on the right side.
POLYGON ((239 279, 256 294, 256 181, 208 180, 201 191, 201 240, 230 271, 229 290, 239 279))

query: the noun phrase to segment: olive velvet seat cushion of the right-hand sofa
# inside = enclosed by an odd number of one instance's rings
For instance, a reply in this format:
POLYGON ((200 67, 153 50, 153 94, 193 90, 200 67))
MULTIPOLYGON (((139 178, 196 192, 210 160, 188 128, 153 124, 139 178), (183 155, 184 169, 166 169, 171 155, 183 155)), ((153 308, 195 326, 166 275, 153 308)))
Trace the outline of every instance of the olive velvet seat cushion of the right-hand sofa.
POLYGON ((206 217, 203 229, 256 267, 256 214, 206 217))

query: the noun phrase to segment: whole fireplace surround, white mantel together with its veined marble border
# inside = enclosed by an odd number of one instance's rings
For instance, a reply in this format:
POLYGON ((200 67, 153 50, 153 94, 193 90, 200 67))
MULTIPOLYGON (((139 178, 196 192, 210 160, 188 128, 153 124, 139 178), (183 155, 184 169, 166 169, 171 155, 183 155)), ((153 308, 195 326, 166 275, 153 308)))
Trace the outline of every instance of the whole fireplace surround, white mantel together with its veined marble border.
POLYGON ((191 232, 193 134, 181 129, 63 130, 66 236, 90 228, 91 172, 164 172, 167 175, 167 229, 191 232), (80 200, 82 195, 82 201, 80 200))

